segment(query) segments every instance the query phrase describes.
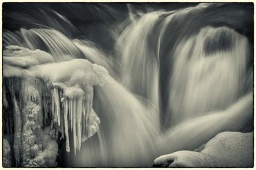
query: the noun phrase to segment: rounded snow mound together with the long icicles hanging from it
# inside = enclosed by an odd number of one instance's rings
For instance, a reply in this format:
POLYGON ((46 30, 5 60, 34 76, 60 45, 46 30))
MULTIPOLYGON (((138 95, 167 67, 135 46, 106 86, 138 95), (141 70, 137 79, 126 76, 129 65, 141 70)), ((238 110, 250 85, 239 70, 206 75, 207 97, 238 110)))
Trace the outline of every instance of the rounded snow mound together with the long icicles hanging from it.
POLYGON ((51 88, 54 122, 64 126, 61 132, 66 137, 66 151, 70 151, 68 129, 73 132, 74 151, 80 150, 81 142, 99 129, 100 120, 93 111, 93 86, 111 82, 109 73, 86 59, 33 66, 28 71, 28 77, 40 78, 51 88))

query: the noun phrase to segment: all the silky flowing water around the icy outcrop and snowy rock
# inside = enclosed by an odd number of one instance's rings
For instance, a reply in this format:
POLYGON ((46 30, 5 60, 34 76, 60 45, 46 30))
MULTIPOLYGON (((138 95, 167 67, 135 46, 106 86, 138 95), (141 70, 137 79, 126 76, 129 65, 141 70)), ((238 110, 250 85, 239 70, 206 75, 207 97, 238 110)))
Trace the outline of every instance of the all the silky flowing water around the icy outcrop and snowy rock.
POLYGON ((94 90, 100 130, 77 155, 63 156, 65 166, 149 167, 159 155, 194 150, 221 131, 242 131, 252 120, 251 6, 243 6, 201 3, 146 12, 127 6, 122 21, 110 5, 107 12, 91 6, 100 19, 116 21, 104 27, 111 32, 111 50, 82 35, 86 22, 77 21, 76 28, 70 16, 42 8, 41 22, 12 14, 30 28, 3 30, 3 46, 39 48, 55 62, 88 59, 114 78, 94 90))

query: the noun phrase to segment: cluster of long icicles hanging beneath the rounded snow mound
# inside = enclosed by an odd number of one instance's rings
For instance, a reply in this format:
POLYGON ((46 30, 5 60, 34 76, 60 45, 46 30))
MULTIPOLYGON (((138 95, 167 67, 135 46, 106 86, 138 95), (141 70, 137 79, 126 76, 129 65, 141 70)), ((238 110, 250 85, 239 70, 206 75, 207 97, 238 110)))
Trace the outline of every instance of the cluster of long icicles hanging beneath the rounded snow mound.
POLYGON ((89 93, 84 93, 79 88, 62 90, 54 87, 51 90, 53 123, 60 127, 62 138, 66 137, 66 151, 70 152, 68 129, 73 132, 74 152, 81 149, 81 144, 98 131, 100 119, 93 111, 93 88, 88 87, 89 93), (69 97, 71 91, 80 91, 76 96, 69 97), (91 124, 90 120, 95 120, 91 124), (90 126, 92 125, 92 126, 90 126))

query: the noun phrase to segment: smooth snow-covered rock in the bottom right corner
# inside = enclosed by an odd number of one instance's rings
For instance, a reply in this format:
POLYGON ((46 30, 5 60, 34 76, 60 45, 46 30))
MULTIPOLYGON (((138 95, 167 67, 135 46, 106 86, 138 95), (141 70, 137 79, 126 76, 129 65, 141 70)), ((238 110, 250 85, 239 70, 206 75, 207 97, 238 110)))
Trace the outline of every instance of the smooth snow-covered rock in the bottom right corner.
POLYGON ((155 167, 253 167, 253 133, 222 132, 195 151, 154 160, 155 167))

